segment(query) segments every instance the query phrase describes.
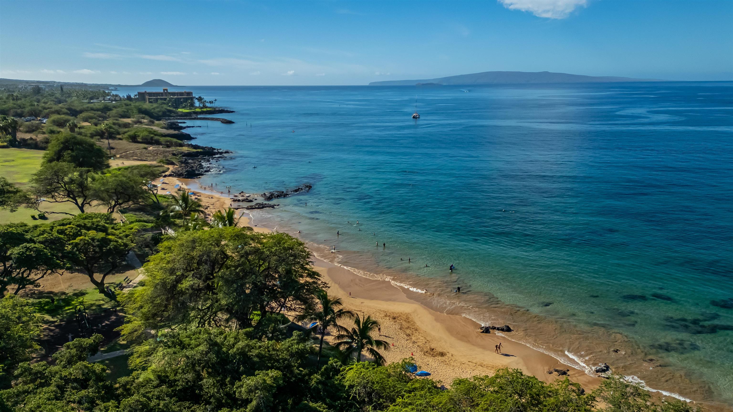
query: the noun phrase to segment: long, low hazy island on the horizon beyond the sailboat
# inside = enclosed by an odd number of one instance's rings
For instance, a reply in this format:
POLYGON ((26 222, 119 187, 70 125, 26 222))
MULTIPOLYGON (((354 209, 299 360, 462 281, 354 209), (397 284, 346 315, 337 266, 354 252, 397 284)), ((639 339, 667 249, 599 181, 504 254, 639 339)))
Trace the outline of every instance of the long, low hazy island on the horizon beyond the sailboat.
POLYGON ((427 78, 421 80, 372 81, 369 86, 425 86, 434 84, 541 84, 541 83, 612 83, 622 81, 663 81, 656 78, 583 76, 552 72, 482 72, 427 78))

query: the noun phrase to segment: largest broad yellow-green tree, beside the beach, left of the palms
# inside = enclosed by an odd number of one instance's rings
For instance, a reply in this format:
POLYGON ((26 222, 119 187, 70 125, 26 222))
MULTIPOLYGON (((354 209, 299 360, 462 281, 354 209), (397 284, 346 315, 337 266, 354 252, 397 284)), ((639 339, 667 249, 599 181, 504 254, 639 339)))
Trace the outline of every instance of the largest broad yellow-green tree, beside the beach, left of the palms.
POLYGON ((251 328, 268 314, 311 309, 324 286, 305 245, 282 233, 178 232, 158 250, 145 265, 145 284, 121 298, 128 339, 179 325, 251 328))

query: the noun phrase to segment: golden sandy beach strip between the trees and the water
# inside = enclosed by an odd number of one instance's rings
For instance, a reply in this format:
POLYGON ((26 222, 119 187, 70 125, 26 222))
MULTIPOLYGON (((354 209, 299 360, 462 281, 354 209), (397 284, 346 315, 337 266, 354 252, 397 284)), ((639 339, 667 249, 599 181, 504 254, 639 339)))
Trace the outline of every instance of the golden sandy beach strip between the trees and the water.
MULTIPOLYGON (((158 189, 160 194, 174 192, 174 185, 180 184, 194 192, 207 216, 231 204, 226 194, 202 188, 196 180, 166 177, 163 182, 158 189)), ((242 216, 240 225, 251 226, 257 232, 270 232, 269 228, 254 224, 245 211, 240 210, 237 214, 242 216)), ((417 293, 395 287, 390 282, 358 276, 317 257, 314 257, 314 268, 328 283, 328 293, 342 298, 347 309, 380 322, 381 339, 393 345, 383 352, 388 362, 413 357, 421 369, 431 372, 432 378, 446 385, 455 378, 487 375, 503 367, 521 369, 546 382, 564 378, 556 373, 550 375, 548 370, 568 369, 570 379, 586 389, 593 389, 600 382, 601 378, 562 364, 539 350, 495 333, 481 334, 480 325, 474 320, 436 312, 410 298, 417 293), (494 353, 499 342, 502 343, 501 354, 494 353)))

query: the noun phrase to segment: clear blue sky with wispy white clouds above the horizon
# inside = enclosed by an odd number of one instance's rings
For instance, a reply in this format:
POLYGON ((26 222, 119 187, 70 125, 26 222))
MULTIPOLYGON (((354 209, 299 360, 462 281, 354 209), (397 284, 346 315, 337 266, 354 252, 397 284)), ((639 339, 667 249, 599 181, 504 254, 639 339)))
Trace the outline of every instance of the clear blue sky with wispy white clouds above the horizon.
POLYGON ((732 80, 733 0, 0 0, 4 78, 367 84, 488 70, 732 80))

